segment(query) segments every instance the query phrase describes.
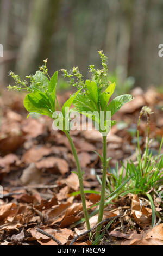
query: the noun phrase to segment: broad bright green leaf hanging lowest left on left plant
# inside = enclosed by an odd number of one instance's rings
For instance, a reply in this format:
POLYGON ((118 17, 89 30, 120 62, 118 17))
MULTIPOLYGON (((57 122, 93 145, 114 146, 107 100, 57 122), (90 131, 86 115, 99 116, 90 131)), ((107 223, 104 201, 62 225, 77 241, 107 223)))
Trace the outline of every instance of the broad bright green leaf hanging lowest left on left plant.
POLYGON ((24 99, 24 107, 28 112, 35 112, 42 115, 52 117, 50 111, 49 100, 45 93, 33 92, 26 95, 24 99))

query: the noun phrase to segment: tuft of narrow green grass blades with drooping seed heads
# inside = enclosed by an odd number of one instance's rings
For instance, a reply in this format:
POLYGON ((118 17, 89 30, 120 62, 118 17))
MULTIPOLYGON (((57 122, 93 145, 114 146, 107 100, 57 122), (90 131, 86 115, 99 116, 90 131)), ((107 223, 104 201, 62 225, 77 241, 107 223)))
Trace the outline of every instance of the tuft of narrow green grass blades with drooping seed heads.
MULTIPOLYGON (((109 177, 107 188, 109 192, 114 191, 122 182, 131 177, 130 182, 126 184, 125 190, 121 191, 121 196, 127 193, 135 193, 146 195, 151 189, 158 191, 163 181, 163 155, 161 148, 163 144, 163 137, 160 143, 158 152, 154 152, 150 148, 151 141, 149 139, 149 125, 151 109, 143 107, 140 113, 139 124, 137 128, 137 161, 127 161, 126 164, 121 163, 122 167, 119 168, 118 163, 116 168, 109 170, 109 177), (144 153, 140 149, 139 125, 142 115, 147 117, 147 143, 144 153)), ((150 198, 151 199, 151 198, 150 198)))

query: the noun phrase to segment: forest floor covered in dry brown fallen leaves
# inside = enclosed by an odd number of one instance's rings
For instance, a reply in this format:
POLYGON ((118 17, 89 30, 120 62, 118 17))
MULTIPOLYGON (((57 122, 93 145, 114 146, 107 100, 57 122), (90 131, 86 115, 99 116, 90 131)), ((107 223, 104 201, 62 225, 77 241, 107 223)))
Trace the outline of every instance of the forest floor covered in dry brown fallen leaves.
MULTIPOLYGON (((70 92, 60 95, 64 102, 70 92)), ((152 149, 158 151, 163 136, 163 95, 154 89, 133 91, 135 99, 123 106, 115 115, 117 125, 108 136, 110 167, 120 161, 136 161, 137 122, 143 106, 151 107, 150 137, 152 149)), ((70 145, 60 131, 52 129, 48 117, 27 117, 23 107, 23 95, 4 92, 0 97, 0 181, 3 198, 0 199, 0 245, 70 245, 73 238, 86 231, 80 195, 70 145), (40 233, 40 228, 46 233, 40 233)), ((141 149, 147 135, 146 118, 140 123, 141 149)), ((98 132, 71 131, 79 160, 84 170, 86 190, 100 191, 97 175, 101 177, 101 161, 93 150, 102 153, 102 138, 98 132)), ((161 150, 163 153, 163 150, 161 150)), ((109 179, 109 174, 108 174, 109 179)), ((151 188, 152 189, 152 188, 151 188)), ((86 204, 90 208, 99 202, 100 195, 87 193, 86 204)), ((158 199, 154 198, 156 211, 162 216, 158 199)), ((96 207, 89 210, 91 214, 96 207)), ((90 218, 91 228, 96 226, 97 214, 90 218)), ((146 197, 127 194, 118 196, 105 208, 102 245, 163 245, 163 223, 151 228, 152 209, 146 197), (121 217, 116 217, 122 215, 121 217)), ((158 217, 156 218, 158 222, 158 217)), ((92 230, 94 234, 95 229, 92 230)), ((94 234, 95 235, 95 234, 94 234)), ((74 245, 91 245, 87 234, 74 241, 74 245)))

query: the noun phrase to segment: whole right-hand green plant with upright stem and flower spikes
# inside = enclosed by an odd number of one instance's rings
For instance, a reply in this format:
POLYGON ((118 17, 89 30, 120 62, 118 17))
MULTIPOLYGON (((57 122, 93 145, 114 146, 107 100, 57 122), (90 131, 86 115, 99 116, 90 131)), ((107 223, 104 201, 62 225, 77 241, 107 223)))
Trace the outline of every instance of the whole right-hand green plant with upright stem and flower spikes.
MULTIPOLYGON (((80 90, 76 96, 76 99, 73 101, 75 110, 80 114, 86 115, 87 118, 92 119, 95 127, 103 137, 103 156, 99 155, 103 164, 103 175, 98 223, 101 222, 103 218, 105 206, 106 173, 110 161, 110 158, 107 159, 106 139, 110 128, 116 124, 116 121, 110 120, 110 118, 125 103, 133 99, 131 95, 124 94, 117 96, 109 103, 109 100, 114 93, 116 84, 108 81, 107 57, 102 51, 99 51, 99 55, 101 57, 102 69, 95 69, 94 65, 90 65, 89 71, 92 74, 91 80, 86 80, 84 82, 83 76, 77 67, 73 68, 71 72, 67 72, 67 70, 62 69, 64 76, 70 78, 70 84, 80 90)), ((96 229, 96 239, 99 236, 100 231, 101 226, 98 226, 96 229)))

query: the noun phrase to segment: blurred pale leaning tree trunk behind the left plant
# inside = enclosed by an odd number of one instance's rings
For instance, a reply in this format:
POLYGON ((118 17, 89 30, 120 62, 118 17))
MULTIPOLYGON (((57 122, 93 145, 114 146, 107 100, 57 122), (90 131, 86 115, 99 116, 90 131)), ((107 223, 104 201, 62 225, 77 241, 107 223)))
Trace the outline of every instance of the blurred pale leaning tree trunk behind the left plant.
POLYGON ((59 0, 35 0, 24 35, 16 71, 22 77, 34 72, 48 57, 59 0))

